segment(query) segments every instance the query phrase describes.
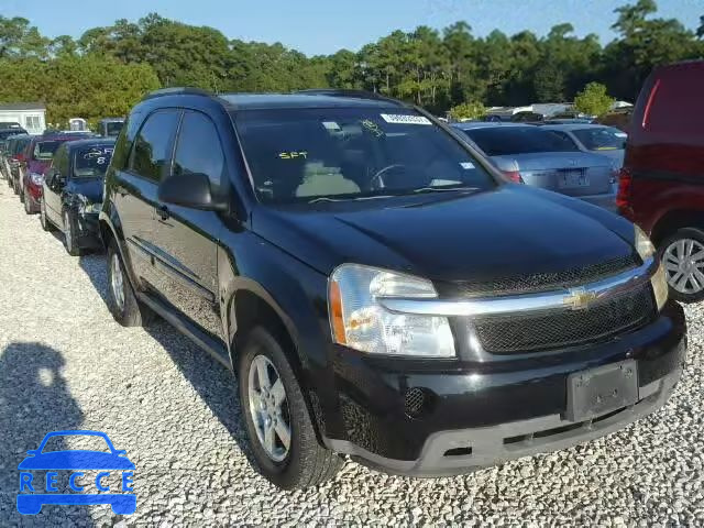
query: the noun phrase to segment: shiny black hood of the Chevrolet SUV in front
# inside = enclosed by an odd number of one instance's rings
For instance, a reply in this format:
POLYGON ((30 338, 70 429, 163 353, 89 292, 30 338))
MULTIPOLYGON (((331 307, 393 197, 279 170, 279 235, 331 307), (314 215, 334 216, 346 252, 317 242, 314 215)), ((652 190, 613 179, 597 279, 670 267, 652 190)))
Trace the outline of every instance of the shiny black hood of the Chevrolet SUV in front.
POLYGON ((324 274, 349 262, 432 280, 551 273, 632 254, 630 222, 520 185, 469 196, 257 208, 254 231, 324 274), (318 207, 320 206, 320 207, 318 207))

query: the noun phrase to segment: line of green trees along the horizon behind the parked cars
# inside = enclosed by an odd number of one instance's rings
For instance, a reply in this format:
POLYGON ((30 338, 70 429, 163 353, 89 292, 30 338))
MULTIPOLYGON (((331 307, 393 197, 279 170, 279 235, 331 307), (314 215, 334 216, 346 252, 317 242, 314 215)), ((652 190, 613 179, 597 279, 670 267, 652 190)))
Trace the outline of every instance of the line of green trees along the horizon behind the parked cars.
POLYGON ((47 38, 26 19, 0 16, 0 102, 44 101, 48 121, 58 123, 124 114, 145 91, 168 86, 363 89, 442 113, 460 105, 569 101, 597 81, 610 96, 632 101, 653 66, 704 56, 704 14, 695 32, 658 16, 654 0, 600 14, 614 20, 617 37, 606 45, 594 34, 575 36, 570 23, 543 36, 495 30, 479 37, 461 21, 441 31, 394 31, 359 52, 311 57, 156 13, 78 38, 47 38))

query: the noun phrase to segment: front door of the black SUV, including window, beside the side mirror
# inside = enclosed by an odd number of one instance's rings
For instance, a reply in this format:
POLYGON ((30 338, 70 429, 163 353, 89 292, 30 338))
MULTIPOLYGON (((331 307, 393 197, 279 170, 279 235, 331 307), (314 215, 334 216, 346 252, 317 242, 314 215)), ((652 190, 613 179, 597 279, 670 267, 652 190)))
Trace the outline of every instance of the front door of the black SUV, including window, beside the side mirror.
MULTIPOLYGON (((176 140, 172 178, 205 174, 213 195, 227 193, 226 162, 216 124, 205 113, 185 110, 176 140)), ((218 301, 219 213, 173 204, 157 210, 157 271, 166 301, 212 338, 222 340, 218 301)))

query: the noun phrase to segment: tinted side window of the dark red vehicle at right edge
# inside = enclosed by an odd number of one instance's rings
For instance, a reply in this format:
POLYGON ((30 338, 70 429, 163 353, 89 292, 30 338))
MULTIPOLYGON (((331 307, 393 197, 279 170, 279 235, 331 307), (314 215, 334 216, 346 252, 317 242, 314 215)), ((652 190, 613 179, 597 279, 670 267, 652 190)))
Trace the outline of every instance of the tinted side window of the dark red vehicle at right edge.
MULTIPOLYGON (((704 135, 704 86, 686 68, 672 69, 652 87, 642 125, 658 133, 704 135)), ((640 124, 640 123, 638 123, 640 124)))

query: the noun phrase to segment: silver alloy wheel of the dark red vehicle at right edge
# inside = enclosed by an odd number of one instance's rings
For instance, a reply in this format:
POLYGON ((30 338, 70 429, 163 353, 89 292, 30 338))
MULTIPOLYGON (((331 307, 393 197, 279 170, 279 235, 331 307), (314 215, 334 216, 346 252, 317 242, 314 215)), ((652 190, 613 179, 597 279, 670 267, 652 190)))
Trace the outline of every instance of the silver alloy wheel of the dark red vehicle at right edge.
POLYGON ((680 239, 666 248, 662 262, 668 284, 674 290, 698 294, 704 290, 704 245, 693 239, 680 239))

